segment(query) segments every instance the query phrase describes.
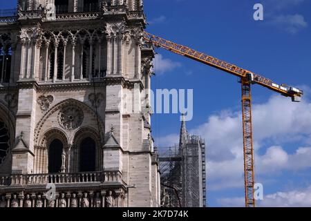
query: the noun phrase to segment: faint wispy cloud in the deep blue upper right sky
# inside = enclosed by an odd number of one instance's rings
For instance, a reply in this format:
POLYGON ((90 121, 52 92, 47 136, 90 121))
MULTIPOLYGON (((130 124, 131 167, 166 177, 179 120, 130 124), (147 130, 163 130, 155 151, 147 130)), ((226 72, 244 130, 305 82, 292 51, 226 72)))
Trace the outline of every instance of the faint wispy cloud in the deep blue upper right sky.
POLYGON ((292 34, 296 34, 303 28, 308 27, 307 21, 303 15, 278 15, 272 18, 272 24, 282 28, 292 34))

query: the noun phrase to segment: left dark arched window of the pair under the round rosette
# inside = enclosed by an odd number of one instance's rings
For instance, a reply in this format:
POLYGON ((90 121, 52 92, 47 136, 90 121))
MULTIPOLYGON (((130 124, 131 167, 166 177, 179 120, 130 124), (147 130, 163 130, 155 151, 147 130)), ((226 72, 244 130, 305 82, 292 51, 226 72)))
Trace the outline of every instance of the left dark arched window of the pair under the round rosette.
POLYGON ((53 140, 48 148, 48 173, 59 173, 62 166, 63 143, 53 140))

